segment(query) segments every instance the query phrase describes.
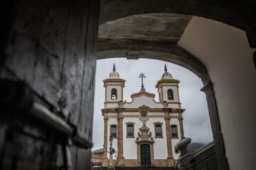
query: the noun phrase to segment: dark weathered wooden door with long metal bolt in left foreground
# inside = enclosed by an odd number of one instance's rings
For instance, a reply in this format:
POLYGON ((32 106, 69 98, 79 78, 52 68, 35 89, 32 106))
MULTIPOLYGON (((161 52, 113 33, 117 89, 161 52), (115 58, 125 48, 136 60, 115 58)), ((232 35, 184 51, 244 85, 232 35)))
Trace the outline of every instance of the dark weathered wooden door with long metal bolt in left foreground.
POLYGON ((100 1, 13 2, 1 39, 0 79, 13 80, 4 93, 14 100, 0 106, 0 169, 90 169, 100 1))

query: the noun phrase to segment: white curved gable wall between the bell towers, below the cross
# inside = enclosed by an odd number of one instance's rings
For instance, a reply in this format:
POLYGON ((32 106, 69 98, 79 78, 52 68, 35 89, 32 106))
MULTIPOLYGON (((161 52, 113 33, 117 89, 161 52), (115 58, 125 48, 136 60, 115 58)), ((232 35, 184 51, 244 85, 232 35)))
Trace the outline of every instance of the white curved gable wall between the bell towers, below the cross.
POLYGON ((134 98, 134 101, 132 103, 126 103, 124 104, 124 108, 138 108, 139 106, 146 105, 150 108, 162 108, 163 106, 161 103, 155 103, 153 101, 153 98, 147 97, 147 96, 139 96, 134 98))

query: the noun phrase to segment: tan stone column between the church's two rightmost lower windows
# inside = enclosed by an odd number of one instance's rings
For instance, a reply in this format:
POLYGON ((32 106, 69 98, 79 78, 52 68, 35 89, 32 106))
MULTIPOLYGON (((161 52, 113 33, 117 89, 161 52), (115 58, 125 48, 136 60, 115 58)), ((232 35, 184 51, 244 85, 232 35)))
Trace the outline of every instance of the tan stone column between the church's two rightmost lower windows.
POLYGON ((170 130, 170 116, 169 110, 164 111, 164 120, 166 125, 166 142, 167 142, 167 166, 174 166, 174 157, 172 155, 172 147, 171 147, 171 130, 170 130))

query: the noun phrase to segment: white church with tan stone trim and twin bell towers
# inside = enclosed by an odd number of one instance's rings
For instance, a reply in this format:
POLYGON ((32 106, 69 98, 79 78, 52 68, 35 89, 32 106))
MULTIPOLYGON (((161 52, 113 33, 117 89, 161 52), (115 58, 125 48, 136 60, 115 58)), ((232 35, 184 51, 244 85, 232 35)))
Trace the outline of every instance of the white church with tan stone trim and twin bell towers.
POLYGON ((156 166, 173 167, 179 153, 174 145, 183 137, 184 109, 178 94, 180 81, 173 79, 164 67, 156 82, 159 101, 155 94, 142 89, 124 101, 125 80, 113 66, 110 77, 105 79, 104 149, 102 166, 156 166), (113 154, 110 155, 110 148, 113 154), (110 158, 111 157, 111 158, 110 158))

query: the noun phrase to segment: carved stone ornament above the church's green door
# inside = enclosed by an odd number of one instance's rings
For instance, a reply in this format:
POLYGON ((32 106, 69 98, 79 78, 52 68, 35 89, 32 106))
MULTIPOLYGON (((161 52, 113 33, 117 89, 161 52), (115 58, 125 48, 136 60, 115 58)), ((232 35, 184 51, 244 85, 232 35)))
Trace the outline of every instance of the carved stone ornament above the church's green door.
POLYGON ((137 143, 149 142, 154 143, 154 138, 152 137, 151 132, 149 132, 149 128, 146 127, 146 123, 144 122, 142 128, 139 128, 138 137, 136 138, 137 143))

